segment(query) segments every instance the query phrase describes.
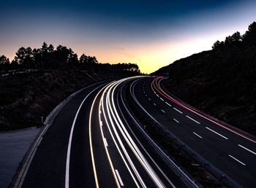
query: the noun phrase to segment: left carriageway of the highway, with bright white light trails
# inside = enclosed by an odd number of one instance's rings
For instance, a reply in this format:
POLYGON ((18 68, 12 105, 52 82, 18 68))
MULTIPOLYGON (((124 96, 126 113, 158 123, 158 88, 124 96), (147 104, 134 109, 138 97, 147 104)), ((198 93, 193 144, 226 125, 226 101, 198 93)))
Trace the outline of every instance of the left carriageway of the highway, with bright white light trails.
POLYGON ((127 109, 125 93, 140 78, 75 95, 45 132, 19 187, 197 187, 155 152, 127 109))

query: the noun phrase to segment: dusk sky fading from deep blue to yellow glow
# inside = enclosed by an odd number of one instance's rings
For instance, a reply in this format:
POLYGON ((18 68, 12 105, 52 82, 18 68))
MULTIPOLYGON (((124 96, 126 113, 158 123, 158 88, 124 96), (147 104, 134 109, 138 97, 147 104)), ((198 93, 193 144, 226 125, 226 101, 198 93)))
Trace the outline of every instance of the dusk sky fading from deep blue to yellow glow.
POLYGON ((253 0, 1 1, 0 55, 43 42, 151 73, 256 20, 253 0))

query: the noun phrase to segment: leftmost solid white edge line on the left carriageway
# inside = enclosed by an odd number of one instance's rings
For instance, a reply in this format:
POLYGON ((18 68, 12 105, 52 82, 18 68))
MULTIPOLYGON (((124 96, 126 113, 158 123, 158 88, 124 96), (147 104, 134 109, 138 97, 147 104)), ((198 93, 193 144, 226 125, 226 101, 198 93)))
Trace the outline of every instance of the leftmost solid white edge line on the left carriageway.
MULTIPOLYGON (((99 85, 98 87, 96 87, 94 90, 97 90, 99 87, 101 87, 102 85, 99 85)), ((94 92, 94 90, 92 90, 88 95, 86 95, 86 98, 89 97, 89 95, 91 95, 91 93, 94 92)), ((69 161, 70 161, 70 150, 71 150, 71 144, 72 144, 72 136, 73 136, 73 132, 74 132, 74 128, 75 128, 75 122, 78 118, 78 113, 81 109, 81 107, 83 106, 84 101, 86 101, 86 98, 83 99, 82 103, 80 103, 80 106, 78 108, 78 111, 75 114, 75 118, 73 120, 72 123, 72 127, 70 130, 70 134, 69 134, 69 144, 67 145, 67 160, 66 160, 66 174, 65 174, 65 188, 69 188, 69 161)))

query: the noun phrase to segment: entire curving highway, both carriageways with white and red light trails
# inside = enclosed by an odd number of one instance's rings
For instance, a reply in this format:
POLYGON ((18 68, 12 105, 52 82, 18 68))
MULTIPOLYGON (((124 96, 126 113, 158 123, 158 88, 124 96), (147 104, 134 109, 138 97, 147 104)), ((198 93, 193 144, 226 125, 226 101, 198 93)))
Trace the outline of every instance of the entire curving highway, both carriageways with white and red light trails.
POLYGON ((127 96, 238 187, 255 187, 255 138, 168 95, 162 79, 100 82, 75 95, 42 136, 18 187, 198 187, 148 136, 127 96))

